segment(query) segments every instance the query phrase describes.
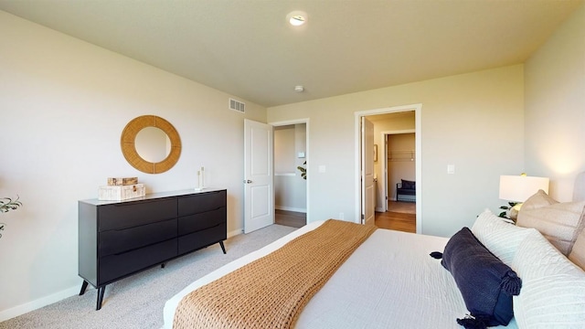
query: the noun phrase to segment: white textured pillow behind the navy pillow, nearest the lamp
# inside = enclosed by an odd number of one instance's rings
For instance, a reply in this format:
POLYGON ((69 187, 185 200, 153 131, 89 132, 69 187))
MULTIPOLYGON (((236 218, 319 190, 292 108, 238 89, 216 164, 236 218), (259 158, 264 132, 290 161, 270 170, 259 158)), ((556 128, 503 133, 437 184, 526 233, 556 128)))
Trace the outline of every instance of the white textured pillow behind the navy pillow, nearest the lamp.
POLYGON ((495 257, 511 266, 516 250, 534 228, 519 228, 514 224, 506 223, 502 218, 495 216, 489 209, 485 209, 473 223, 472 233, 489 249, 495 257))

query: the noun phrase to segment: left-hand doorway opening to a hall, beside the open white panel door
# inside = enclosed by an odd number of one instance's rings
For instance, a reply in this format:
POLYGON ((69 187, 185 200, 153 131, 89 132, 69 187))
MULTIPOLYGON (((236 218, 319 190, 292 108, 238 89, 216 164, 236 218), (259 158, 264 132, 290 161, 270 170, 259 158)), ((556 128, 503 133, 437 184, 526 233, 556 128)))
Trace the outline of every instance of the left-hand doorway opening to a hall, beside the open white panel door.
POLYGON ((271 122, 271 125, 274 127, 275 223, 300 228, 309 218, 308 120, 271 122))

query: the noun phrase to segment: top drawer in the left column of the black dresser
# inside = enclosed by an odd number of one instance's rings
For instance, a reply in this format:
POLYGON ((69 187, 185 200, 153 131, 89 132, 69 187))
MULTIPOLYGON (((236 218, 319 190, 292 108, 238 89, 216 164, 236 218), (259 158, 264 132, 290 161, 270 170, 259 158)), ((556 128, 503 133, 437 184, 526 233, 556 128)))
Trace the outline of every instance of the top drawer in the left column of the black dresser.
POLYGON ((176 198, 124 202, 98 208, 98 231, 133 228, 176 218, 176 198))

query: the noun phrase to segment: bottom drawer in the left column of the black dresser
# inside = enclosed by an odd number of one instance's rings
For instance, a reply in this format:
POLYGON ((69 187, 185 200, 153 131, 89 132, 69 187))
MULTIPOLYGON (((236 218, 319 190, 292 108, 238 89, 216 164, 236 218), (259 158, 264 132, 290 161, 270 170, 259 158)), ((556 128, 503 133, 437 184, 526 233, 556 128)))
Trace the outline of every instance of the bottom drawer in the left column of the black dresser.
POLYGON ((176 239, 170 239, 141 249, 103 257, 99 260, 98 284, 102 285, 122 279, 122 277, 163 263, 175 256, 176 239))

